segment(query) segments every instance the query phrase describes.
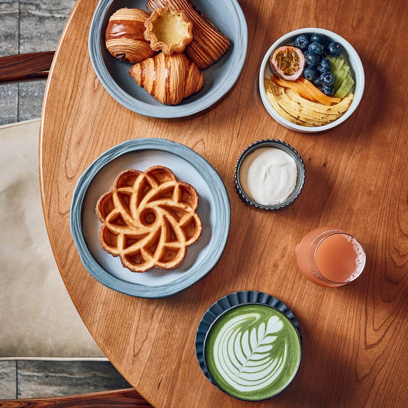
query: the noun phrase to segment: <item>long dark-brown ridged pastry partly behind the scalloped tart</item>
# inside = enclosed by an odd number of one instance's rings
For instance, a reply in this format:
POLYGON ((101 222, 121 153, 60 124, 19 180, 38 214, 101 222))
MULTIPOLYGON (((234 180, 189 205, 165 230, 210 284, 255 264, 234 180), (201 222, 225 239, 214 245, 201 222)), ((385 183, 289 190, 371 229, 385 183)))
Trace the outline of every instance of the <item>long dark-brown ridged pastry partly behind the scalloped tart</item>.
POLYGON ((152 12, 165 6, 183 10, 193 23, 193 40, 187 44, 186 54, 198 68, 208 68, 226 53, 230 40, 190 0, 148 0, 146 8, 152 12))

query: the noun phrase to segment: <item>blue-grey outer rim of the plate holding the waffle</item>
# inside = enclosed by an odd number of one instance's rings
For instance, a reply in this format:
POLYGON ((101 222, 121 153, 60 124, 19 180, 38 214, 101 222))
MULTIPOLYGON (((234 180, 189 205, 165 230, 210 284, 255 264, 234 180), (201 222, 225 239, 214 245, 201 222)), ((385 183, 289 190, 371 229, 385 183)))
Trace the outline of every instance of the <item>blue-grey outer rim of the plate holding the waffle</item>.
MULTIPOLYGON (((95 214, 96 217, 96 214, 95 214)), ((118 292, 145 298, 162 298, 172 296, 209 273, 220 259, 230 232, 231 208, 230 200, 221 180, 214 167, 193 149, 168 139, 143 138, 122 142, 105 151, 84 171, 79 178, 72 194, 71 208, 69 213, 69 225, 75 246, 77 247, 81 261, 85 269, 101 284, 118 292), (192 270, 174 281, 160 286, 145 286, 137 283, 123 281, 112 276, 101 267, 92 257, 82 232, 82 208, 86 192, 97 172, 112 160, 126 153, 138 150, 163 150, 181 157, 192 165, 201 175, 203 180, 210 184, 215 206, 214 240, 208 257, 196 265, 192 270)))

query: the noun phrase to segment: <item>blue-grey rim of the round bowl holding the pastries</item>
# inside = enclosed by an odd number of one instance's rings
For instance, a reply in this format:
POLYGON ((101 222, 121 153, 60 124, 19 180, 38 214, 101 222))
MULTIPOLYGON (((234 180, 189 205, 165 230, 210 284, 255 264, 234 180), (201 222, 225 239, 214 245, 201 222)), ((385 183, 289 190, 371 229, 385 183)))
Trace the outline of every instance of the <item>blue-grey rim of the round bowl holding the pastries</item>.
MULTIPOLYGON (((237 0, 227 0, 230 5, 230 10, 234 16, 232 22, 237 29, 237 37, 240 43, 240 48, 234 53, 234 61, 231 64, 231 69, 224 75, 226 80, 222 83, 220 88, 211 89, 199 100, 187 105, 179 106, 152 106, 146 104, 136 98, 127 94, 120 88, 112 79, 100 53, 101 36, 103 20, 105 15, 114 0, 100 0, 92 17, 89 36, 88 36, 88 50, 91 59, 92 67, 104 88, 108 93, 117 100, 122 106, 130 109, 140 115, 156 117, 156 118, 177 118, 190 116, 201 112, 214 105, 220 98, 222 98, 237 82, 242 68, 244 67, 247 46, 248 46, 248 27, 246 24, 245 15, 237 0)), ((105 46, 105 45, 104 45, 105 46)), ((231 56, 233 57, 233 55, 231 56)), ((230 58, 231 58, 230 57, 230 58)), ((222 58, 222 57, 221 57, 222 58)), ((137 86, 137 85, 136 85, 137 86)))

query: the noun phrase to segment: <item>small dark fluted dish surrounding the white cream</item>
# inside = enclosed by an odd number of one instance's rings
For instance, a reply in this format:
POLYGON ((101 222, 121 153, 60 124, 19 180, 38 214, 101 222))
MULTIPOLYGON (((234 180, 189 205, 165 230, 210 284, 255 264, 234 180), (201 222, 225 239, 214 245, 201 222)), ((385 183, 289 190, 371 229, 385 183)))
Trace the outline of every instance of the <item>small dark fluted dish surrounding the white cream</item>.
POLYGON ((237 165, 235 166, 235 175, 234 175, 234 180, 235 180, 235 188, 237 190, 238 195, 244 201, 247 205, 256 207, 262 210, 279 210, 281 208, 284 208, 286 206, 289 206, 300 194, 303 188, 304 184, 304 165, 303 165, 303 160, 301 159, 300 155, 298 152, 288 143, 282 142, 281 140, 275 140, 275 139, 265 139, 265 140, 259 140, 258 142, 255 142, 248 146, 242 153, 241 156, 239 157, 237 161, 237 165), (296 179, 296 186, 294 190, 292 191, 291 195, 283 202, 280 202, 278 204, 275 204, 273 206, 263 206, 259 204, 256 201, 253 201, 247 194, 246 192, 242 189, 240 180, 239 180, 239 172, 241 170, 241 164, 244 162, 244 160, 250 155, 254 150, 260 149, 262 147, 274 147, 280 150, 285 151, 289 156, 291 156, 296 163, 296 169, 297 169, 297 179, 296 179))

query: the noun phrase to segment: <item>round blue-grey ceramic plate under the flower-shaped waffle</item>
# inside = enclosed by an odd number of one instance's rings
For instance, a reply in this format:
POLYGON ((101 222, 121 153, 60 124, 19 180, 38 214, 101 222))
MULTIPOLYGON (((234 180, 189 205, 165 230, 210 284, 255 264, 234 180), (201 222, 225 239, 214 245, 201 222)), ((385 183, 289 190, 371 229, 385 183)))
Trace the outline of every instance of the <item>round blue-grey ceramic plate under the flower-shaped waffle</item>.
POLYGON ((72 196, 70 227, 85 268, 101 284, 133 296, 166 297, 188 288, 217 264, 230 231, 230 201, 217 171, 194 150, 166 139, 134 139, 107 150, 82 174, 72 196), (177 179, 195 187, 202 234, 187 248, 179 268, 131 272, 100 247, 95 206, 122 170, 144 171, 154 165, 170 168, 177 179))

